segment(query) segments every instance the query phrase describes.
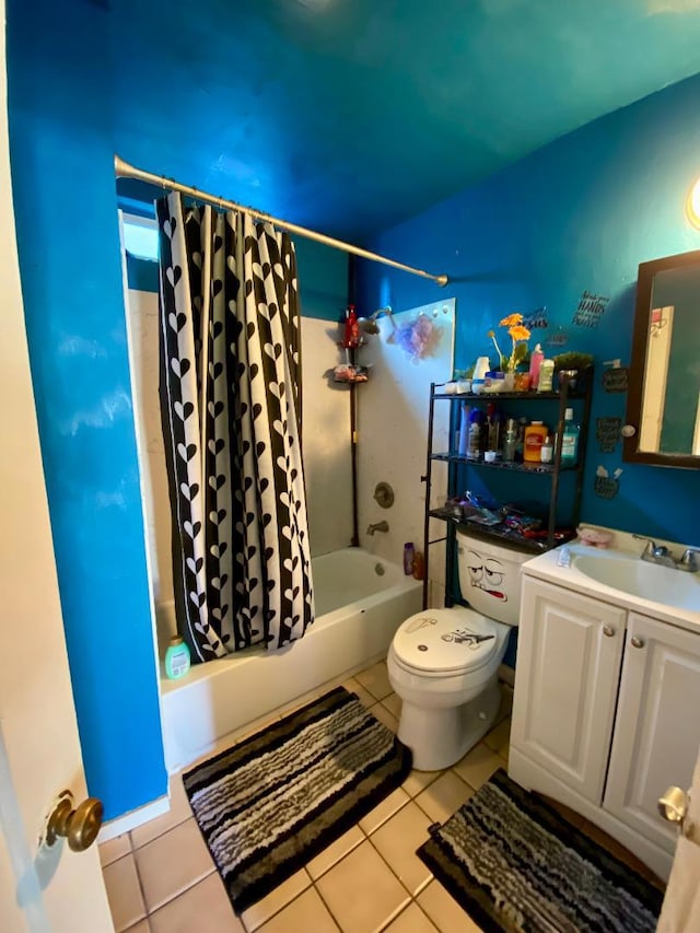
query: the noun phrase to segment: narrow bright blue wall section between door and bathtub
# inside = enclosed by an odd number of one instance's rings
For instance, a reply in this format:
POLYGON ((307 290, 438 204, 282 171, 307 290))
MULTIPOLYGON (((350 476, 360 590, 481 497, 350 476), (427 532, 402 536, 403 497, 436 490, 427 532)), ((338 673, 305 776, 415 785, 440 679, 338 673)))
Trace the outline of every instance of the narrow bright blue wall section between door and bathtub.
POLYGON ((90 793, 164 794, 127 359, 105 16, 8 4, 13 195, 44 470, 90 793), (42 30, 37 31, 37 23, 42 30), (90 36, 90 40, 81 36, 90 36))

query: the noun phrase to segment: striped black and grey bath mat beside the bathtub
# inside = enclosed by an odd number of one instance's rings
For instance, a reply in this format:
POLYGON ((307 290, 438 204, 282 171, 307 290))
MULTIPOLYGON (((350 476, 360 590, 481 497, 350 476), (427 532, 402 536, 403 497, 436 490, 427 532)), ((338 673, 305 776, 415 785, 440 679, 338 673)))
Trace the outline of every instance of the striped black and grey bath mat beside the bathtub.
POLYGON ((338 687, 183 775, 236 912, 396 790, 410 751, 338 687))

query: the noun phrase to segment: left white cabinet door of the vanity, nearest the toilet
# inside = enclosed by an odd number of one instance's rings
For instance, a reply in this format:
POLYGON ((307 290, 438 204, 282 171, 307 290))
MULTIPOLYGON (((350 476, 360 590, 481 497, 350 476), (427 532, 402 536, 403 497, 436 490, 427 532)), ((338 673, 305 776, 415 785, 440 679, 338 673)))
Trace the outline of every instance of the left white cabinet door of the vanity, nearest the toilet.
POLYGON ((511 742, 599 804, 625 610, 525 576, 511 742))

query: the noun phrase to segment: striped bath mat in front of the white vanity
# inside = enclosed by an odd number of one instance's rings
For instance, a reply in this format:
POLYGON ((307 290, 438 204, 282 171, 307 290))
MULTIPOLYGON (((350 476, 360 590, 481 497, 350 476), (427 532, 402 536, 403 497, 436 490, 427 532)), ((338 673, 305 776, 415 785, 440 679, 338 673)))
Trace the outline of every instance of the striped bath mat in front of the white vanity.
POLYGON ((418 855, 485 933, 656 929, 662 893, 502 770, 418 855))

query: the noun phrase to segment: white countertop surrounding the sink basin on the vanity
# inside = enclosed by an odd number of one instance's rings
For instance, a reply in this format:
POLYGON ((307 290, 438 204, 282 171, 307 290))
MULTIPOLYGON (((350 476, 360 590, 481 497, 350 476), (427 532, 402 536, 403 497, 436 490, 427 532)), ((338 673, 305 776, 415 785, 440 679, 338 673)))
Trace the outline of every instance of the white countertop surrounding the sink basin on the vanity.
MULTIPOLYGON (((538 580, 545 580, 548 583, 555 583, 558 586, 564 586, 575 593, 582 593, 585 596, 591 596, 594 599, 600 599, 604 603, 611 603, 615 606, 622 606, 632 611, 642 613, 645 616, 660 619, 661 621, 670 622, 679 628, 689 629, 690 631, 700 632, 700 610, 678 608, 669 606, 665 603, 656 603, 652 599, 646 599, 642 596, 635 596, 631 593, 626 593, 622 590, 617 590, 614 586, 607 586, 599 583, 592 576, 582 573, 575 567, 576 556, 590 555, 595 557, 606 557, 615 560, 616 557, 625 560, 641 560, 638 555, 629 550, 618 550, 614 548, 595 548, 588 545, 570 544, 562 545, 546 553, 528 560, 523 564, 523 573, 528 576, 536 576, 538 580), (571 565, 559 567, 557 561, 563 548, 569 548, 571 552, 571 565)), ((653 564, 649 564, 652 567, 653 564)), ((672 570, 669 573, 684 574, 681 570, 672 570)), ((700 572, 693 576, 699 576, 700 572)))

